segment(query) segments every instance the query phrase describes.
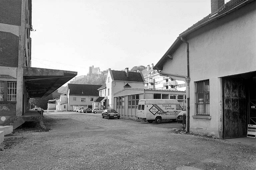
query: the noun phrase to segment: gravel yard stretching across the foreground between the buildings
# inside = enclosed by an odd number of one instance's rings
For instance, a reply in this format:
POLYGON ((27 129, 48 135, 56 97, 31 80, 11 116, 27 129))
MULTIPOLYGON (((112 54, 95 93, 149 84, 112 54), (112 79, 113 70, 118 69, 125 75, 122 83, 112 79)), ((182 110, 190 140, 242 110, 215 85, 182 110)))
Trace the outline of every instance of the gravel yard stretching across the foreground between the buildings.
POLYGON ((44 114, 48 132, 5 136, 0 169, 255 169, 255 146, 180 134, 177 123, 102 119, 100 114, 44 114))

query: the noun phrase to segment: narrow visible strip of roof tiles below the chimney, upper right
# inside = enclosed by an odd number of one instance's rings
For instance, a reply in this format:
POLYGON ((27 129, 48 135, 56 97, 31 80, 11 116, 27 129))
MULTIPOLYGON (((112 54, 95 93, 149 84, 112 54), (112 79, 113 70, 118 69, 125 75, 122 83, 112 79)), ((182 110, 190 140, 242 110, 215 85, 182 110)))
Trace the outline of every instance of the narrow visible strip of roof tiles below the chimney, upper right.
POLYGON ((192 30, 193 28, 199 26, 200 24, 202 24, 204 22, 207 22, 207 21, 211 20, 212 18, 218 17, 218 16, 228 12, 229 10, 235 8, 236 6, 242 4, 242 3, 246 2, 246 1, 248 1, 248 0, 231 0, 231 1, 227 2, 226 4, 224 4, 219 9, 219 12, 217 13, 217 15, 214 15, 213 17, 211 17, 211 14, 207 15, 206 17, 204 17, 203 19, 201 19, 197 23, 193 24, 193 26, 189 27, 186 31, 182 32, 180 35, 182 35, 182 34, 188 32, 188 31, 192 30))

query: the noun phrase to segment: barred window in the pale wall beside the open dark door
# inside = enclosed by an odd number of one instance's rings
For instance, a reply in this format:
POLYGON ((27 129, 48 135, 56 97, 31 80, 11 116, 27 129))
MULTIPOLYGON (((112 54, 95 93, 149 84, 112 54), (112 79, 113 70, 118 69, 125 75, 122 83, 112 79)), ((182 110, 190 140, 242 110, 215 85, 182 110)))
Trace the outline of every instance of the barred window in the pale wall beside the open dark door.
POLYGON ((196 82, 196 115, 210 116, 209 80, 196 82))

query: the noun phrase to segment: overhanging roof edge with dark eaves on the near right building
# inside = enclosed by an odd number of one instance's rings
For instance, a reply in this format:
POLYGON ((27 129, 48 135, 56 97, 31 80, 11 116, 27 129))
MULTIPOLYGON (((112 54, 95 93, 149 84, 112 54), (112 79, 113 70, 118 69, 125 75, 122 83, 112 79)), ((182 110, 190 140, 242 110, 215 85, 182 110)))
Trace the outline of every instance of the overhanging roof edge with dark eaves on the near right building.
MULTIPOLYGON (((182 41, 181 41, 181 37, 186 37, 187 35, 189 35, 190 33, 232 13, 233 11, 253 2, 255 0, 245 0, 245 1, 239 1, 240 3, 237 4, 236 6, 232 7, 232 8, 228 8, 225 9, 225 6, 224 8, 222 9, 222 11, 219 11, 219 13, 217 15, 215 15, 214 17, 210 17, 210 14, 206 17, 204 17, 202 20, 198 21, 196 24, 194 24, 192 27, 188 28, 186 31, 184 31, 183 33, 181 33, 179 35, 179 37, 177 37, 177 39, 175 40, 175 42, 171 45, 171 47, 166 51, 166 53, 162 56, 162 58, 157 62, 157 64, 153 67, 154 70, 162 70, 163 69, 163 65, 164 63, 166 62, 166 60, 169 58, 167 55, 171 55, 174 53, 174 51, 176 51, 176 49, 182 44, 182 41), (223 12, 225 11, 225 12, 223 12)), ((238 3, 238 1, 236 0, 232 0, 232 1, 229 1, 228 3, 238 3)), ((226 3, 226 4, 228 4, 226 3)), ((225 4, 225 5, 226 5, 225 4)))

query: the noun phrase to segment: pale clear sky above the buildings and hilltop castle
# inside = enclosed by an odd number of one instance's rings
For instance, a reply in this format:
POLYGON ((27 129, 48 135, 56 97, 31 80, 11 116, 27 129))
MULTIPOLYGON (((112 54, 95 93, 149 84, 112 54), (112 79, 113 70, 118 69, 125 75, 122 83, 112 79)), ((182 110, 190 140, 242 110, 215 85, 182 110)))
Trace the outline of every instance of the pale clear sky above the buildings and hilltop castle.
POLYGON ((33 0, 31 66, 80 76, 92 65, 101 71, 155 65, 209 13, 210 0, 33 0))

